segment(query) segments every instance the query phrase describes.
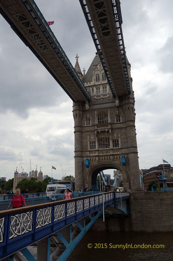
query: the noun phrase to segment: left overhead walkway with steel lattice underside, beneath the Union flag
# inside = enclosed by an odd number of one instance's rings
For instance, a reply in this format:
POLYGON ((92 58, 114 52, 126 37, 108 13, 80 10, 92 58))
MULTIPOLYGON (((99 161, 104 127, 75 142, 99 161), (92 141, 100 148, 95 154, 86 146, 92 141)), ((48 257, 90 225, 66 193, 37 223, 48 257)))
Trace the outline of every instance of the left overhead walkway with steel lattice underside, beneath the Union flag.
POLYGON ((73 101, 88 91, 33 0, 1 0, 0 13, 73 101))

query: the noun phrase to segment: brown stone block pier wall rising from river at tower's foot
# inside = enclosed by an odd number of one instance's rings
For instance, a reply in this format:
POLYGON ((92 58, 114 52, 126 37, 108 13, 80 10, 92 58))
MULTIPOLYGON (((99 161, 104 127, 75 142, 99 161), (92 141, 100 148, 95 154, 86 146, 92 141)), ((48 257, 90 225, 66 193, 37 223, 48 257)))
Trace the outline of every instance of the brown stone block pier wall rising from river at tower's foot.
POLYGON ((130 218, 99 218, 91 230, 173 232, 173 192, 132 192, 130 218))

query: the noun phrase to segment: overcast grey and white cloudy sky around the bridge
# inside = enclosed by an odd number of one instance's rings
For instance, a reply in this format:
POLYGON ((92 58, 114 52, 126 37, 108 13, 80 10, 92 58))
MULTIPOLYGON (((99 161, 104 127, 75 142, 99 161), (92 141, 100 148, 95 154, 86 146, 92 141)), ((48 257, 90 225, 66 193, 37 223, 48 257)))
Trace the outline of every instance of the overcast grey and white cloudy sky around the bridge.
MULTIPOLYGON (((75 66, 88 70, 95 46, 78 0, 36 0, 75 66)), ((135 94, 139 168, 172 165, 172 2, 121 0, 123 36, 135 94)), ((0 17, 0 176, 36 165, 56 179, 74 175, 72 101, 28 47, 0 17), (17 169, 19 170, 19 169, 17 169)), ((113 174, 113 170, 104 173, 113 174)))

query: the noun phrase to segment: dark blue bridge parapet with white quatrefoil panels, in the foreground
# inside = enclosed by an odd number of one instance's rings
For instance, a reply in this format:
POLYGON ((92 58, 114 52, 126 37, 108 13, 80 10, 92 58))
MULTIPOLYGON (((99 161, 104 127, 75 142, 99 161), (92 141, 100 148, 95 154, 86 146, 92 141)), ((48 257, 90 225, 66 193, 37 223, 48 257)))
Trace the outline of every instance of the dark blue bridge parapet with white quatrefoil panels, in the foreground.
MULTIPOLYGON (((0 212, 0 258, 52 235, 114 202, 107 192, 0 212), (102 200, 102 196, 103 199, 102 200)), ((129 192, 116 193, 116 200, 129 198, 129 192)), ((26 253, 26 252, 25 252, 26 253)), ((26 253, 27 254, 27 253, 26 253)))

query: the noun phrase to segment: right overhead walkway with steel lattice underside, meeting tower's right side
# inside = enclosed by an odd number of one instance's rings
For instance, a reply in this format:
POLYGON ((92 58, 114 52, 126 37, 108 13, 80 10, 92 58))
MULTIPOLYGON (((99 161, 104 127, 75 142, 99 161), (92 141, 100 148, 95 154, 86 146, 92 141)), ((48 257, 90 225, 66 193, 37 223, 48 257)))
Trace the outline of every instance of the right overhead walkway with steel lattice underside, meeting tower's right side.
POLYGON ((130 94, 119 0, 79 0, 114 97, 130 94))

